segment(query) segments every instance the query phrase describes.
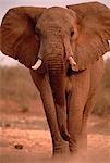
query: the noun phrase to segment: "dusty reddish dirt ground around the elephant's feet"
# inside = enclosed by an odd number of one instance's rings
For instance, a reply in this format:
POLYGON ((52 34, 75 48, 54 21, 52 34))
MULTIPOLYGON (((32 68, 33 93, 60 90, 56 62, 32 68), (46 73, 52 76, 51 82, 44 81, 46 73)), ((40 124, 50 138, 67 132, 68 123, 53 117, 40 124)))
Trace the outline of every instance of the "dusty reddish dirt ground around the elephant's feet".
MULTIPOLYGON (((8 102, 9 108, 2 109, 5 101, 0 101, 0 163, 50 163, 51 139, 40 101, 32 110, 8 102)), ((64 159, 60 163, 110 163, 110 117, 91 115, 87 138, 86 161, 64 159)))

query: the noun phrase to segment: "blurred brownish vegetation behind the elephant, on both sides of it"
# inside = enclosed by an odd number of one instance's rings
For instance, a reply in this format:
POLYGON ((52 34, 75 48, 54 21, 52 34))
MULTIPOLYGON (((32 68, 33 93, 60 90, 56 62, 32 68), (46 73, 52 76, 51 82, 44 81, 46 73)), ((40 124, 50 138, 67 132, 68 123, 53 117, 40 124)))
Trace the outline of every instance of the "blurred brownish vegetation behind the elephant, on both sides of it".
MULTIPOLYGON (((0 100, 13 101, 21 110, 28 111, 30 103, 39 100, 39 92, 34 86, 29 71, 24 66, 0 67, 0 100)), ((2 104, 0 110, 4 110, 2 104)), ((94 114, 110 115, 110 60, 106 62, 99 98, 94 114)))

